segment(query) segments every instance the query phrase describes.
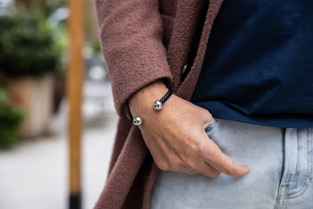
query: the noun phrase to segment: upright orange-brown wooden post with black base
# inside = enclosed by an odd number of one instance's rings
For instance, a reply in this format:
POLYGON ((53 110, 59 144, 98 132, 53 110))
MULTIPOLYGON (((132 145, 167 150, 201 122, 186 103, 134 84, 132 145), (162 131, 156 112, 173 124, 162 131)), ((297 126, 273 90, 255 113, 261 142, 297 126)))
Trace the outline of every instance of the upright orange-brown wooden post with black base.
POLYGON ((84 44, 83 0, 69 2, 69 209, 81 209, 81 102, 84 61, 82 49, 84 44))

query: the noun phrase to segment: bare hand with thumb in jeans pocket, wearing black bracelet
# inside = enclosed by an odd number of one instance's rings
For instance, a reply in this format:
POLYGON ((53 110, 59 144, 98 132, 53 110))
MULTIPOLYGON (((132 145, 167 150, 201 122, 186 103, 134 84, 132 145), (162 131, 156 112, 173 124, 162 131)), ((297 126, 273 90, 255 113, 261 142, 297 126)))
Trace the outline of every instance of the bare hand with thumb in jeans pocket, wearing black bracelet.
POLYGON ((204 131, 212 121, 208 110, 175 95, 161 110, 153 108, 153 102, 167 90, 162 81, 156 81, 136 92, 129 101, 132 115, 142 119, 139 128, 156 165, 161 170, 210 177, 221 172, 234 177, 248 173, 248 166, 233 162, 208 138, 204 131))

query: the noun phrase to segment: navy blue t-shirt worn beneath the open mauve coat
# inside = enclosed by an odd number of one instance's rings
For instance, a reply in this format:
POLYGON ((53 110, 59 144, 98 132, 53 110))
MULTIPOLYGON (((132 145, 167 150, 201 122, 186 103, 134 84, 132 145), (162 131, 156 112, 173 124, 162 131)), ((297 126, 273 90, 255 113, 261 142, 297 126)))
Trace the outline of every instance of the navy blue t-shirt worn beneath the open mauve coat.
POLYGON ((191 102, 216 118, 313 127, 313 0, 224 0, 191 102))

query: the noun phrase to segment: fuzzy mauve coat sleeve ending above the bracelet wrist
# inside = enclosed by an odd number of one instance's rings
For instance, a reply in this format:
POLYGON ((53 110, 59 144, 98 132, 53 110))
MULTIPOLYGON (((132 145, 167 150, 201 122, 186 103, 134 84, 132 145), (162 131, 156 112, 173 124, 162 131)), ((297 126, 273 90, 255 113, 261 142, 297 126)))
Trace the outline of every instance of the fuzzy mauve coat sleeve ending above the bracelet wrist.
POLYGON ((162 43, 159 3, 158 0, 95 0, 95 6, 115 108, 122 116, 127 99, 135 91, 160 78, 167 78, 169 83, 172 80, 162 43))

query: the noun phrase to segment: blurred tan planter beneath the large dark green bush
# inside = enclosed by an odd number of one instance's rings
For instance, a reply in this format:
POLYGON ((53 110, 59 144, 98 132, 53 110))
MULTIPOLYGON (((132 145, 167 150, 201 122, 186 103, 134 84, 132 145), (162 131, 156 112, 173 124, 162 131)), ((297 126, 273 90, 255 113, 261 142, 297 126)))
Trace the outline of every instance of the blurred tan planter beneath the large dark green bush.
POLYGON ((53 80, 53 76, 2 79, 12 105, 25 112, 19 129, 22 138, 36 137, 48 128, 53 108, 53 80))

